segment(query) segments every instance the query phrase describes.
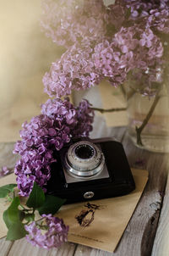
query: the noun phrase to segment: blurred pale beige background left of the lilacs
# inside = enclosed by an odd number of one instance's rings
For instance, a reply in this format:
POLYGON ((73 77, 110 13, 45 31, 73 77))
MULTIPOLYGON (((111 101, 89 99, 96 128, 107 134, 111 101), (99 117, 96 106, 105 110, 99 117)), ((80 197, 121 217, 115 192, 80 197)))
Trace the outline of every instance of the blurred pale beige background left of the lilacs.
POLYGON ((48 98, 41 79, 62 48, 41 32, 40 0, 0 0, 0 7, 0 142, 15 142, 48 98))

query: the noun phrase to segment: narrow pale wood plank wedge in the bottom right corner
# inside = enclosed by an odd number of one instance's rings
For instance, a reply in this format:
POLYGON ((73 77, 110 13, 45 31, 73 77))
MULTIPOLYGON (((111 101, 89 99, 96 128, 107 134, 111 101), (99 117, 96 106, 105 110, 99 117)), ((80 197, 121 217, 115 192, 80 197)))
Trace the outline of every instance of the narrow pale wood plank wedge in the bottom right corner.
MULTIPOLYGON (((169 170, 169 167, 168 167, 169 170)), ((169 176, 166 183, 166 192, 163 199, 159 225, 155 234, 152 256, 169 255, 169 176)))

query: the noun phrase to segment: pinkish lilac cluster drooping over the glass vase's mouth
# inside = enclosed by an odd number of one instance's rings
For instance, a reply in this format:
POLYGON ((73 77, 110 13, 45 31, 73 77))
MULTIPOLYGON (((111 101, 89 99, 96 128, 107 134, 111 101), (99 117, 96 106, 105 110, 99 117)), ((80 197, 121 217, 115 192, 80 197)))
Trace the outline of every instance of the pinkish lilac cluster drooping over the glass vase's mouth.
POLYGON ((132 61, 128 62, 133 81, 130 86, 144 96, 154 96, 156 83, 161 84, 163 73, 160 38, 150 28, 136 30, 135 26, 122 28, 114 38, 122 52, 133 53, 132 61))

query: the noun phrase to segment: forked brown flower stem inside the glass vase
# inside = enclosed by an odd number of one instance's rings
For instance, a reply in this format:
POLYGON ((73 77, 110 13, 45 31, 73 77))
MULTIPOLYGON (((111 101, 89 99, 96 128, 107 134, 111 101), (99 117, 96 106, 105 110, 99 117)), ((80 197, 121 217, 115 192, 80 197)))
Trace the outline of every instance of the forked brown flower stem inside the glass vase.
POLYGON ((160 98, 161 98, 161 96, 159 95, 159 92, 157 92, 156 95, 155 95, 155 100, 152 103, 152 106, 150 107, 150 110, 149 110, 148 114, 146 115, 145 119, 143 120, 142 125, 140 125, 139 127, 137 127, 137 126, 135 127, 135 131, 136 131, 136 134, 137 134, 137 144, 139 146, 144 146, 143 142, 141 140, 141 132, 144 130, 145 125, 147 125, 147 123, 149 122, 150 117, 153 114, 153 112, 155 110, 155 107, 156 107, 156 104, 159 102, 160 98))

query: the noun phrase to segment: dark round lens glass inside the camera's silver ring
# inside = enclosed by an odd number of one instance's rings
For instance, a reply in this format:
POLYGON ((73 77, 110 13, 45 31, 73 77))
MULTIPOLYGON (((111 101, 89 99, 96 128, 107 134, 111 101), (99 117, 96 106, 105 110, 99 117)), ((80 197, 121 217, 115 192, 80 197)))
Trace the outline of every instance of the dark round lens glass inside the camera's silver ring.
POLYGON ((90 159, 94 155, 94 148, 90 145, 82 144, 75 148, 75 154, 79 159, 90 159))

